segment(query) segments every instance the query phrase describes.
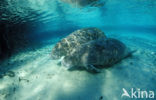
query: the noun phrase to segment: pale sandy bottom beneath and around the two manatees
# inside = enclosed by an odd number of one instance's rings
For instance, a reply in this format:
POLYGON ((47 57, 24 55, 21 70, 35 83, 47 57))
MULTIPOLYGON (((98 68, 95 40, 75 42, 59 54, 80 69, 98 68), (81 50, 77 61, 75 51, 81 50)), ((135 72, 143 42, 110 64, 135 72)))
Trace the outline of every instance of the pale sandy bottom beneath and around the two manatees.
POLYGON ((121 98, 123 88, 155 91, 156 41, 152 35, 108 36, 137 51, 101 73, 91 74, 57 65, 50 58, 53 40, 45 42, 48 45, 19 53, 0 65, 15 74, 0 78, 0 100, 127 100, 121 98))

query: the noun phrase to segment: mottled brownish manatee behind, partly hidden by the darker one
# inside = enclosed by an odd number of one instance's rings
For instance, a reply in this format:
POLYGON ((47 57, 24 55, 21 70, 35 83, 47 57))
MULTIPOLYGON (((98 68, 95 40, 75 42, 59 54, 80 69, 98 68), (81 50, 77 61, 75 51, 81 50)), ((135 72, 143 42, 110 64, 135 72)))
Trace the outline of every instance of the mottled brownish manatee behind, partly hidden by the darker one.
POLYGON ((83 28, 76 30, 59 41, 52 49, 52 59, 60 59, 76 50, 77 46, 99 38, 106 38, 105 34, 98 28, 83 28))

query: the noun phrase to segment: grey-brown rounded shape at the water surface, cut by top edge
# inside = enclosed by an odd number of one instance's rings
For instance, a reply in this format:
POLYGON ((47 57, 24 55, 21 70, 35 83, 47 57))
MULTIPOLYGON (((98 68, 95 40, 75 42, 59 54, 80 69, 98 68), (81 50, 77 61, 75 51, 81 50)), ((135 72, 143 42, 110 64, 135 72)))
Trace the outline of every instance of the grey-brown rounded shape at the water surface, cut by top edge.
POLYGON ((98 3, 100 0, 61 0, 63 2, 72 4, 75 7, 84 7, 84 6, 103 6, 103 3, 98 3))

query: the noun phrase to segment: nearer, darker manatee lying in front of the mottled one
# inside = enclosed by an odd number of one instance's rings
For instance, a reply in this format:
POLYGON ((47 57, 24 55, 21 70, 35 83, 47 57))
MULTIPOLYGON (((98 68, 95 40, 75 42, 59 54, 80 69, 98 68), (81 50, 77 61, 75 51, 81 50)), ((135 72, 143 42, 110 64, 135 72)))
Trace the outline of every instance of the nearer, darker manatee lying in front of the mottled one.
POLYGON ((69 70, 86 69, 91 72, 100 72, 99 67, 111 66, 131 52, 120 41, 112 38, 101 38, 85 43, 76 48, 61 62, 69 70))

